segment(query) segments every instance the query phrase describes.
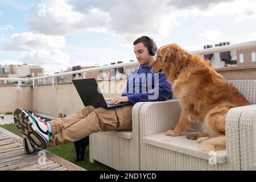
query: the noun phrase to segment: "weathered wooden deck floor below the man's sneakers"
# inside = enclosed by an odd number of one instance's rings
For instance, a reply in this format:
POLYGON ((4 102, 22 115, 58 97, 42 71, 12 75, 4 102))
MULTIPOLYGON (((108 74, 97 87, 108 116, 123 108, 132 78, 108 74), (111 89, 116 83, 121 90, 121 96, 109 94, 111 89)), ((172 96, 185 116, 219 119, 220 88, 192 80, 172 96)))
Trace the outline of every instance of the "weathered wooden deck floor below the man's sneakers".
POLYGON ((0 171, 85 171, 49 151, 43 155, 24 154, 23 140, 0 127, 0 171))

